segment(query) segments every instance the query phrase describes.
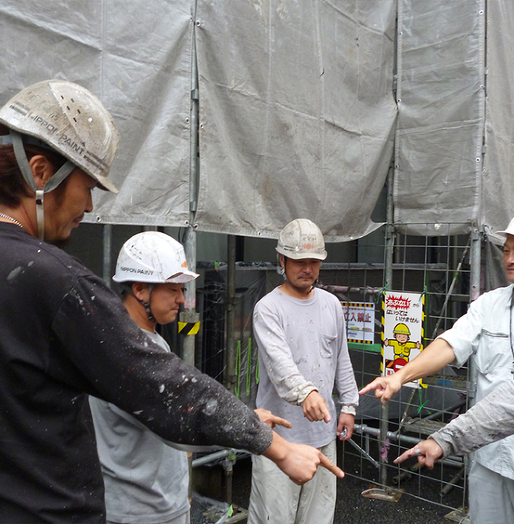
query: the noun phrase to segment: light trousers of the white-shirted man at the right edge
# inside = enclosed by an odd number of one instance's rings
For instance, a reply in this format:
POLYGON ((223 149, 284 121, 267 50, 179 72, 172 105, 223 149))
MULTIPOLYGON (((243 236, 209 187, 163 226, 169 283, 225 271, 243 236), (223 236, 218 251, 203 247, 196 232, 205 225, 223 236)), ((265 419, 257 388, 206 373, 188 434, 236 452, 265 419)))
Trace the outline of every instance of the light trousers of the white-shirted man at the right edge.
POLYGON ((469 470, 469 519, 472 524, 514 523, 514 480, 473 462, 469 470))

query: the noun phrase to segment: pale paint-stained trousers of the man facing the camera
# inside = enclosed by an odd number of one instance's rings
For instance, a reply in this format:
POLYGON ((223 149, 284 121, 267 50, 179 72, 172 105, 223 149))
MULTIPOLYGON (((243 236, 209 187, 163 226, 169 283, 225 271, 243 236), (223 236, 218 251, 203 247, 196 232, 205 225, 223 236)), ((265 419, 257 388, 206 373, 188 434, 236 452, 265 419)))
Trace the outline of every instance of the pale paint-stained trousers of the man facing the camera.
MULTIPOLYGON (((334 464, 336 441, 320 448, 334 464)), ((266 457, 252 457, 252 492, 248 524, 332 524, 336 480, 325 467, 313 479, 297 486, 266 457)))

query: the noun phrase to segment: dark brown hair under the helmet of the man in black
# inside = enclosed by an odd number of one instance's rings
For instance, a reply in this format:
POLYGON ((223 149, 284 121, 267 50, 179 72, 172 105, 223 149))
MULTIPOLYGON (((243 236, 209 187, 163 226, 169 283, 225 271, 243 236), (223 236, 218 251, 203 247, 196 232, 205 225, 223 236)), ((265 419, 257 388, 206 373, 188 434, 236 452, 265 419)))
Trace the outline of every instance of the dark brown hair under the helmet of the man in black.
MULTIPOLYGON (((41 154, 52 164, 55 171, 66 163, 64 156, 50 149, 30 144, 25 144, 24 147, 29 160, 36 154, 41 154)), ((63 190, 66 187, 66 181, 67 178, 59 184, 58 188, 62 186, 63 190)), ((20 205, 22 197, 30 195, 32 195, 32 190, 23 179, 13 146, 11 144, 0 145, 0 204, 16 207, 20 205)))

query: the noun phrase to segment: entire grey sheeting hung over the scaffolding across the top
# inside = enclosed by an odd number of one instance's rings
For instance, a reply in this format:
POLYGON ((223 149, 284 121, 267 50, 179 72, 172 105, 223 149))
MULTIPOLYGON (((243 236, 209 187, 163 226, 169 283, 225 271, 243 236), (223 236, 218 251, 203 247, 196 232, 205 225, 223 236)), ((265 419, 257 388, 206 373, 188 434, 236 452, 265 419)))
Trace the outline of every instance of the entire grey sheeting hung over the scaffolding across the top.
POLYGON ((2 0, 0 103, 88 87, 122 135, 89 220, 183 226, 196 34, 197 229, 361 237, 394 139, 399 229, 491 232, 514 215, 513 23, 512 0, 2 0))

